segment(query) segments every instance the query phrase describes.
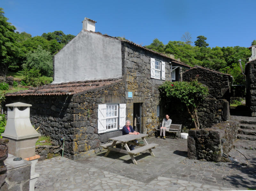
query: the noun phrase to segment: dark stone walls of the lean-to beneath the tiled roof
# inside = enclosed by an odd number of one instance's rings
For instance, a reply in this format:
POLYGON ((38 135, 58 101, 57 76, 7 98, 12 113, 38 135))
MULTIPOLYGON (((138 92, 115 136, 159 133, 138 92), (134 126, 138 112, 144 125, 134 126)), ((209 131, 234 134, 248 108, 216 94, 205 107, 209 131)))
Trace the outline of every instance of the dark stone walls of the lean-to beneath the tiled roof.
MULTIPOLYGON (((71 96, 7 97, 6 104, 14 102, 32 104, 32 125, 41 125, 38 132, 50 136, 54 145, 62 145, 61 138, 65 137, 64 155, 76 159, 100 152, 100 139, 108 133, 98 134, 98 104, 125 103, 124 82, 71 96)), ((116 134, 121 135, 120 131, 116 134)))

